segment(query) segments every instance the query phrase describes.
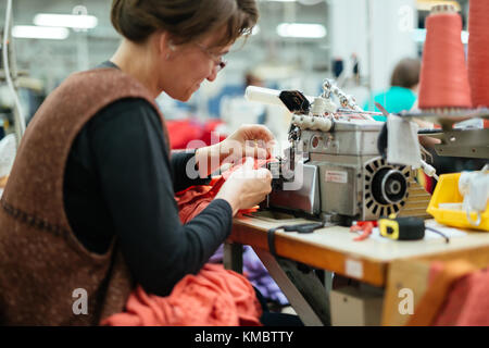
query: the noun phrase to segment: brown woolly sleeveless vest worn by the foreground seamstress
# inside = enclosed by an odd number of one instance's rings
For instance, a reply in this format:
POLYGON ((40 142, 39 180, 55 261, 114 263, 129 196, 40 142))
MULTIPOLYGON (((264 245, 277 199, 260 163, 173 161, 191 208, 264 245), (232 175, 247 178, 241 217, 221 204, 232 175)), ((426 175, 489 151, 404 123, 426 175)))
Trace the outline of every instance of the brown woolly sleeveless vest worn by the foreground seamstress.
POLYGON ((0 325, 97 325, 123 311, 134 284, 117 240, 105 254, 84 248, 64 211, 63 178, 83 126, 130 97, 154 107, 168 141, 148 89, 116 69, 73 74, 27 127, 0 206, 0 325), (79 313, 84 294, 88 314, 79 313))

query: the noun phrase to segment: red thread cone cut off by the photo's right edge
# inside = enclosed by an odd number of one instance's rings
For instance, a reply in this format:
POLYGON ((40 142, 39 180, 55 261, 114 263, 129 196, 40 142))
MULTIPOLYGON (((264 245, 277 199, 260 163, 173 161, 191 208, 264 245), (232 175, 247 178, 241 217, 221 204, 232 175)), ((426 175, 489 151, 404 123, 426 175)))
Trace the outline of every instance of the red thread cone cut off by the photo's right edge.
POLYGON ((474 108, 489 107, 489 1, 471 0, 468 10, 468 82, 474 108))

